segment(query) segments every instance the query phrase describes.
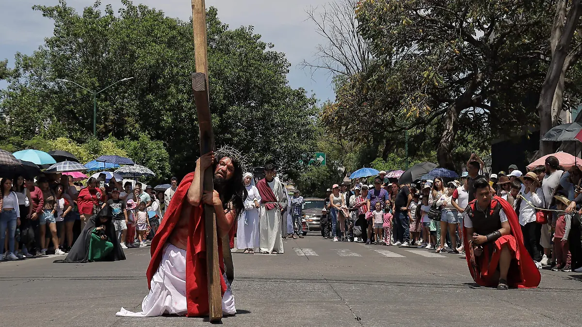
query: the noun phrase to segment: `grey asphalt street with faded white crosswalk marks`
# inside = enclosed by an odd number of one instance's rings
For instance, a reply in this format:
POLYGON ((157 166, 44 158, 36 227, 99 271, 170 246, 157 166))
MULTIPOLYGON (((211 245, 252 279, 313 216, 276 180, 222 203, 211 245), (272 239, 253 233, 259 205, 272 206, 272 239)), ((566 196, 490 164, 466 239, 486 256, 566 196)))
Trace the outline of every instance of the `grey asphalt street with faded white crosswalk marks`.
MULTIPOLYGON (((464 257, 320 236, 278 255, 234 253, 236 317, 226 326, 580 326, 582 274, 542 271, 538 289, 474 285, 464 257)), ((120 318, 140 311, 150 248, 127 260, 0 262, 0 326, 207 326, 201 318, 120 318)))

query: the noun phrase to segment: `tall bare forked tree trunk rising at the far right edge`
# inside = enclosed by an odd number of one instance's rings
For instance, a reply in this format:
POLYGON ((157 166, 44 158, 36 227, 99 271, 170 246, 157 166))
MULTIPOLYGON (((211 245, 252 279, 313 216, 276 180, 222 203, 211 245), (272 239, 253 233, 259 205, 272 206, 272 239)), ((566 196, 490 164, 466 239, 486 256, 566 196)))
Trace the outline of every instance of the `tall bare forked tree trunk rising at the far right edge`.
MULTIPOLYGON (((556 12, 556 19, 560 17, 559 10, 556 12)), ((560 26, 560 22, 554 22, 554 28, 552 29, 551 44, 556 44, 555 49, 552 54, 552 61, 550 62, 548 73, 546 74, 544 84, 542 84, 542 90, 540 93, 540 101, 538 102, 538 112, 540 113, 540 156, 551 154, 553 152, 552 142, 545 142, 541 139, 544 137, 548 130, 552 129, 552 104, 554 103, 554 96, 556 95, 556 88, 562 73, 564 72, 564 64, 568 52, 570 50, 570 44, 572 44, 572 37, 578 22, 580 20, 581 6, 580 0, 572 0, 572 6, 566 17, 565 27, 562 29, 556 29, 556 26, 560 26), (556 39, 559 41, 556 42, 556 39)), ((563 24, 563 22, 562 22, 563 24)), ((562 94, 562 93, 558 93, 562 94)), ((560 101, 561 102, 561 101, 560 101)), ((556 102, 557 103, 557 102, 556 102)), ((560 106, 561 109, 561 106, 560 106)), ((559 113, 558 113, 559 115, 559 113)), ((556 119, 557 120, 557 119, 556 119)))

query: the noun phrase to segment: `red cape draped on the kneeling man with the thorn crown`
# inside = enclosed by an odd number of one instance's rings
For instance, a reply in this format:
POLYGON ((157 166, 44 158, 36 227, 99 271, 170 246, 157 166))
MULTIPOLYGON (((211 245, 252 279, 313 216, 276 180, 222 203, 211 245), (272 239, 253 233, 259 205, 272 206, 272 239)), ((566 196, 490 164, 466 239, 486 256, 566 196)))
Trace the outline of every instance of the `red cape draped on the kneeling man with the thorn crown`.
MULTIPOLYGON (((164 246, 168 241, 172 230, 182 214, 186 194, 194 179, 194 173, 184 177, 172 201, 166 209, 166 214, 154 240, 151 241, 151 261, 147 268, 148 288, 151 289, 151 279, 159 268, 164 252, 164 246)), ((218 261, 221 270, 220 282, 222 295, 226 292, 226 283, 223 278, 224 261, 222 259, 222 242, 218 242, 218 261)), ((208 315, 208 281, 206 276, 206 241, 204 229, 203 205, 193 207, 188 225, 188 240, 186 248, 186 317, 201 317, 208 315)))

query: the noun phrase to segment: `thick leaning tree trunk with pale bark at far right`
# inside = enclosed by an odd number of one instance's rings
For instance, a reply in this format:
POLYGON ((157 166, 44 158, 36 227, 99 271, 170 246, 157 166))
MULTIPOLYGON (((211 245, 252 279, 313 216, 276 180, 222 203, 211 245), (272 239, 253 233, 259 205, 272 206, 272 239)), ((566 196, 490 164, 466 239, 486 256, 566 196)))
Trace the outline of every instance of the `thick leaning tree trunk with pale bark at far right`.
POLYGON ((540 113, 540 157, 553 153, 551 142, 541 139, 548 130, 558 125, 558 117, 562 112, 562 103, 566 73, 582 54, 582 37, 577 35, 576 45, 572 44, 574 34, 580 34, 580 14, 582 4, 580 0, 556 1, 556 14, 553 19, 549 44, 551 61, 538 102, 540 113))

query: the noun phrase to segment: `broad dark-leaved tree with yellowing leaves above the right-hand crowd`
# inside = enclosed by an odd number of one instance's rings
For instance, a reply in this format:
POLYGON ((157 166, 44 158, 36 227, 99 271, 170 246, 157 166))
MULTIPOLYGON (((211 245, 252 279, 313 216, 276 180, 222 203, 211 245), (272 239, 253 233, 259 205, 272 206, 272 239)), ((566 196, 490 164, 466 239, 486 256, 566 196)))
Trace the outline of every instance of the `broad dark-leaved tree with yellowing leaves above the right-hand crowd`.
POLYGON ((524 98, 541 86, 545 5, 363 0, 356 17, 378 61, 342 90, 343 106, 400 133, 432 126, 439 165, 455 169, 457 134, 477 131, 484 143, 535 123, 524 98))

